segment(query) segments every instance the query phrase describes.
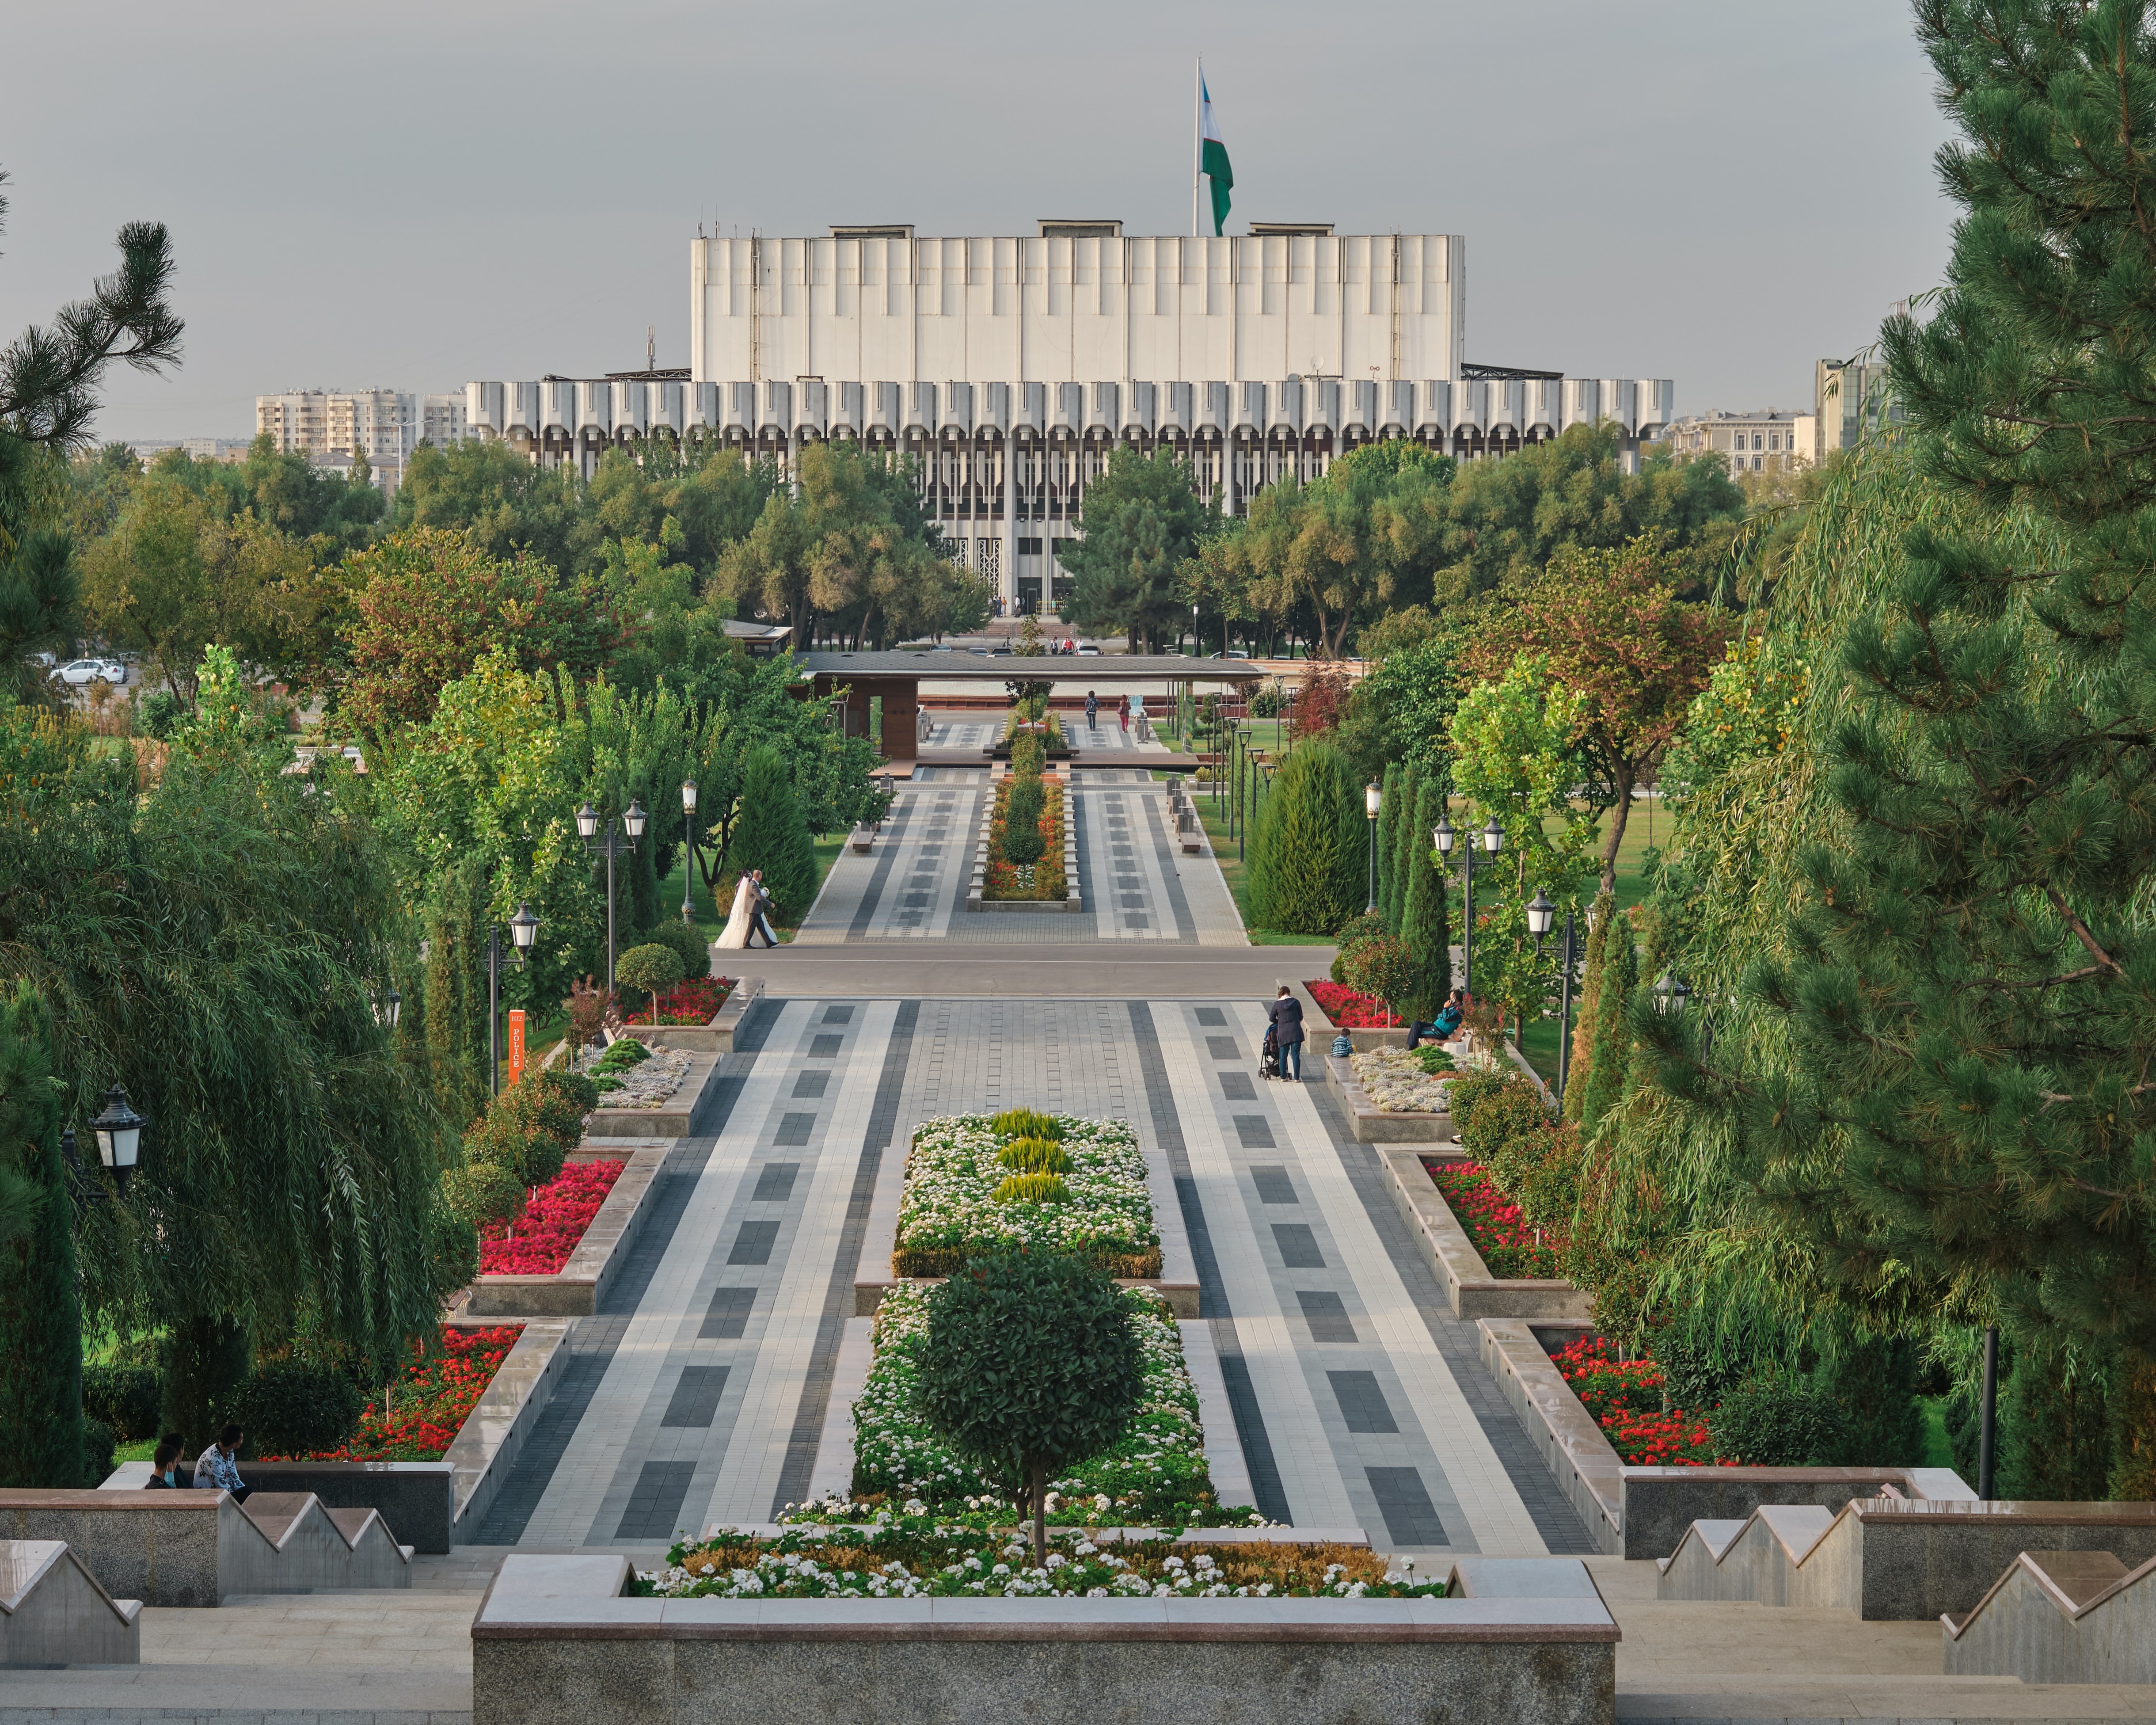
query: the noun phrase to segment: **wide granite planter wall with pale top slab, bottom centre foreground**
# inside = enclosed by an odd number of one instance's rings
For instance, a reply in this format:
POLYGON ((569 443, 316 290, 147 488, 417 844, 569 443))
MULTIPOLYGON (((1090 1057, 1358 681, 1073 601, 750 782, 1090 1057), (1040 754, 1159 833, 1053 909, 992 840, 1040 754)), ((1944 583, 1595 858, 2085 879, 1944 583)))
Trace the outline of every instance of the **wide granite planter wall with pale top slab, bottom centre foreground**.
POLYGON ((502 1561, 474 1725, 817 1719, 1611 1725, 1600 1598, 632 1600, 621 1557, 502 1561))

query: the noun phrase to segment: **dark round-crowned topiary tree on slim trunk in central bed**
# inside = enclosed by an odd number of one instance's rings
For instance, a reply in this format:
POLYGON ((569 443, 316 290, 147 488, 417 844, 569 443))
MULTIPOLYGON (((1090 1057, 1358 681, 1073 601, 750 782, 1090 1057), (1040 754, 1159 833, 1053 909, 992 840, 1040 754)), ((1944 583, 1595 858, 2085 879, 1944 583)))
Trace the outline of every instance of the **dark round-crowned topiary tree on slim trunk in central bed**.
POLYGON ((936 1434, 1033 1507, 1048 1561, 1048 1475, 1123 1436, 1141 1356, 1115 1281, 1080 1257, 979 1257, 927 1300, 921 1410, 936 1434))

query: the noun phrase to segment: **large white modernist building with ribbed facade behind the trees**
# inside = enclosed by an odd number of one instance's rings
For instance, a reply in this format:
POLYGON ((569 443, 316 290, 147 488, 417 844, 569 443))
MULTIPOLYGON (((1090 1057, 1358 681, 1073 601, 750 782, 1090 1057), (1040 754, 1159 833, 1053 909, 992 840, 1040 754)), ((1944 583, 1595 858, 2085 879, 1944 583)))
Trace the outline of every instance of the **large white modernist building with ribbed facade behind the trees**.
POLYGON ((699 235, 690 282, 686 371, 468 384, 470 433, 586 468, 645 436, 780 466, 828 438, 903 451, 964 561, 1018 608, 1052 597, 1054 546, 1117 446, 1173 451, 1240 513, 1380 438, 1479 459, 1613 420, 1636 459, 1675 395, 1470 364, 1466 248, 1447 233, 699 235))

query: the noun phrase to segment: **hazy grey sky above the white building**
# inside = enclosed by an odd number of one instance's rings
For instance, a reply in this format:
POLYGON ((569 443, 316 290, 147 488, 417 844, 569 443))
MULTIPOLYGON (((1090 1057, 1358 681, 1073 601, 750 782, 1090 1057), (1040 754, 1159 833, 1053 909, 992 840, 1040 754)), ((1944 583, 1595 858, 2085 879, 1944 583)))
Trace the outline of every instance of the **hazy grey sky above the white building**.
POLYGON ((239 438, 280 388, 688 362, 696 222, 1466 235, 1466 354, 1811 403, 1938 280, 1945 125, 1897 0, 11 9, 0 341, 172 229, 185 364, 99 436, 239 438), (34 69, 34 71, 32 71, 34 69))

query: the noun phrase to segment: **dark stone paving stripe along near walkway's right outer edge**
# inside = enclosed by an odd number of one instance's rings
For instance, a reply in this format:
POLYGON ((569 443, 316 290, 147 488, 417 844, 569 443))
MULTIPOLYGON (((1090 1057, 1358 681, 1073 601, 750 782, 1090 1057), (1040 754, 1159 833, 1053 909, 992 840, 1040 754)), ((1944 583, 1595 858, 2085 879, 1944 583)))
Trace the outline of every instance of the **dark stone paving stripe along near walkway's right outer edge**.
MULTIPOLYGON (((1438 1287, 1436 1270, 1429 1268, 1429 1259, 1423 1255, 1421 1244, 1408 1231, 1408 1223, 1393 1203, 1393 1192, 1386 1186, 1386 1173, 1378 1162, 1378 1151, 1354 1141, 1354 1134, 1348 1130, 1348 1121, 1341 1115, 1339 1102, 1330 1089, 1324 1085, 1309 1085, 1304 1087, 1304 1095, 1309 1095, 1317 1106, 1317 1117, 1326 1123, 1326 1132, 1332 1136, 1332 1151, 1341 1158, 1341 1167, 1348 1171, 1348 1179, 1354 1186, 1356 1197, 1363 1201, 1363 1210, 1369 1216, 1371 1227, 1378 1229, 1378 1238, 1384 1242, 1384 1251, 1393 1259, 1393 1268, 1399 1270, 1408 1298, 1412 1298, 1416 1311, 1421 1311, 1423 1328, 1427 1328, 1429 1339, 1438 1343, 1438 1354, 1453 1374, 1453 1382, 1460 1384, 1460 1393, 1475 1412, 1475 1423, 1481 1425, 1483 1436, 1490 1440, 1490 1449, 1496 1451, 1496 1460, 1505 1468, 1505 1477, 1511 1481, 1511 1488, 1520 1494, 1520 1503, 1526 1505, 1526 1514, 1533 1518, 1542 1542, 1554 1555, 1593 1555, 1598 1546, 1587 1537, 1587 1524, 1580 1520, 1580 1512, 1572 1507, 1572 1501, 1559 1488, 1557 1477, 1550 1473, 1535 1445, 1529 1443, 1526 1430, 1520 1425, 1520 1417, 1498 1393, 1496 1382, 1492 1382, 1490 1367, 1481 1363, 1475 1326, 1453 1317, 1451 1309, 1445 1305, 1445 1289, 1438 1287)), ((1378 1473, 1380 1468, 1371 1468, 1373 1490, 1378 1490, 1378 1473)), ((1391 1486, 1386 1490, 1391 1490, 1391 1486)), ((1378 1503, 1386 1516, 1386 1524, 1391 1524, 1393 1509, 1384 1509, 1384 1490, 1378 1492, 1378 1503)), ((1421 1514, 1414 1505, 1401 1505, 1397 1496, 1395 1507, 1401 1509, 1410 1522, 1421 1514)), ((1432 1509, 1432 1518, 1434 1516, 1436 1512, 1432 1509)))

